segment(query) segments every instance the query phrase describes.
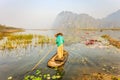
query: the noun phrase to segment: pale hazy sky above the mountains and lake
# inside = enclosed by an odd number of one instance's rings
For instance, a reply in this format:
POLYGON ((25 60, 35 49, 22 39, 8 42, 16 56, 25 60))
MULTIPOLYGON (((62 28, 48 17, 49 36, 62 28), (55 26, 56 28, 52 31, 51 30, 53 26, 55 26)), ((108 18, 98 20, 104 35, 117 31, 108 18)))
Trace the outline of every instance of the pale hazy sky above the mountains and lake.
POLYGON ((51 28, 58 13, 72 11, 103 18, 120 9, 120 0, 0 0, 0 24, 51 28))

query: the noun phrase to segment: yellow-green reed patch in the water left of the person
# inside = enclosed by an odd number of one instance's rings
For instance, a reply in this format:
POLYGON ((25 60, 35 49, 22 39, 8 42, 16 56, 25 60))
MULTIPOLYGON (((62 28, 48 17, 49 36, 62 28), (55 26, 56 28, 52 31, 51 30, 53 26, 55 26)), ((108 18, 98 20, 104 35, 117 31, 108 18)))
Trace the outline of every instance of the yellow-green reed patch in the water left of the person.
POLYGON ((8 36, 8 40, 0 47, 2 47, 2 50, 15 49, 18 47, 26 48, 29 44, 31 46, 38 46, 38 45, 43 46, 44 44, 54 44, 54 42, 55 40, 53 38, 43 35, 11 34, 8 36), (35 39, 35 41, 33 41, 33 39, 35 39))

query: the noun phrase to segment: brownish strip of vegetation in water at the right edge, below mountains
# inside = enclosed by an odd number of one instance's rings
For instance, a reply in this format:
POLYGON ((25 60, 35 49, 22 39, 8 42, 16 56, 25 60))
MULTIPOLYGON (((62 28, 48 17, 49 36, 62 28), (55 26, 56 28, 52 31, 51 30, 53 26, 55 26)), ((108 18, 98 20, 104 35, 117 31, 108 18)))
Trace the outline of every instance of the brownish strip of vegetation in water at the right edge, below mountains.
POLYGON ((112 37, 110 37, 109 35, 102 35, 101 37, 107 39, 109 41, 109 43, 117 48, 120 48, 120 41, 113 39, 112 37))

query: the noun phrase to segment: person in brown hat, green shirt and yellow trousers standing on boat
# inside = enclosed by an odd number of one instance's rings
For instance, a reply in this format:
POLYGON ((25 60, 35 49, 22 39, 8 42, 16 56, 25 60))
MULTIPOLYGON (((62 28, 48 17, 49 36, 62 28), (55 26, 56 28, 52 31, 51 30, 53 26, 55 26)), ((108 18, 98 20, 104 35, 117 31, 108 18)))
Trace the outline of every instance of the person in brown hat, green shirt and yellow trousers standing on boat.
POLYGON ((64 44, 63 34, 57 33, 55 34, 55 37, 56 37, 58 59, 61 60, 63 58, 63 44, 64 44))

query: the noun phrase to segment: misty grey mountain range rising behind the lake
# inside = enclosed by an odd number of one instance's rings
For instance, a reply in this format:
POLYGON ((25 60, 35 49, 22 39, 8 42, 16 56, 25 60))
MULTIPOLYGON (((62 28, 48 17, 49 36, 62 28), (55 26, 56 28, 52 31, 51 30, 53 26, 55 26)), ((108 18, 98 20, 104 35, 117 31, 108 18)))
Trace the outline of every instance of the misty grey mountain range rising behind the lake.
POLYGON ((120 28, 120 10, 103 19, 95 19, 88 14, 76 14, 69 11, 59 13, 54 28, 120 28))

